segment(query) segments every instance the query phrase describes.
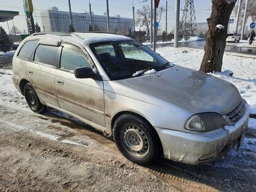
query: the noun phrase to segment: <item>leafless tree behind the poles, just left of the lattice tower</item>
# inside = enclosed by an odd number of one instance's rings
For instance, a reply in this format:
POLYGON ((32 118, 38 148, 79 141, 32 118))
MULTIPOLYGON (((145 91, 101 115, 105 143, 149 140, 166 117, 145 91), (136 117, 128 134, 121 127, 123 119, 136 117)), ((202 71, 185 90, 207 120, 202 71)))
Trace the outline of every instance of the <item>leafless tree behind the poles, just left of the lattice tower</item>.
MULTIPOLYGON (((162 13, 164 11, 165 11, 165 8, 163 7, 160 7, 157 9, 156 20, 158 21, 158 23, 160 23, 162 13)), ((149 35, 149 27, 150 27, 150 7, 149 6, 143 6, 143 8, 137 10, 136 24, 140 26, 140 28, 145 26, 147 28, 147 35, 149 35)))

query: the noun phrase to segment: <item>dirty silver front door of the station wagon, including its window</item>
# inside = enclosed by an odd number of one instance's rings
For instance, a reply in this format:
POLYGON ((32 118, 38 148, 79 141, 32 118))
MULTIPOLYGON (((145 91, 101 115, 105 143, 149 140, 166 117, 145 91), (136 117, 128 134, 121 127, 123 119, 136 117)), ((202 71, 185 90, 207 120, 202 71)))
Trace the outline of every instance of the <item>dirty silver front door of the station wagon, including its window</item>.
POLYGON ((86 50, 73 44, 62 44, 60 68, 55 73, 60 108, 104 127, 103 82, 77 79, 73 71, 80 66, 93 68, 93 61, 86 50))

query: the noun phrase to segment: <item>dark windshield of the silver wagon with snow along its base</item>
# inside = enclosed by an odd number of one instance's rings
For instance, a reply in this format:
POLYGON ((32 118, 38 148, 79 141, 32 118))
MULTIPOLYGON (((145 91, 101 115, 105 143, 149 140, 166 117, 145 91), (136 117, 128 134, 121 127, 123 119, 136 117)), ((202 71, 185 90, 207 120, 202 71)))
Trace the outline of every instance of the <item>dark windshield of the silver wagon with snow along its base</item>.
POLYGON ((156 73, 171 66, 156 52, 134 40, 104 41, 90 44, 90 48, 111 80, 156 73))

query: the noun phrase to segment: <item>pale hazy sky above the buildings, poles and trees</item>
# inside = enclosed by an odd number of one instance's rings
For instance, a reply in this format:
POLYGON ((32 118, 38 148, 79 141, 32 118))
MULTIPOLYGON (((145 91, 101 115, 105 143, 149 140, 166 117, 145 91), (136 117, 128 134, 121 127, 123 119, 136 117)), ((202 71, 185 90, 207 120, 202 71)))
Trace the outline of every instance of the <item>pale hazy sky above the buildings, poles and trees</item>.
MULTIPOLYGON (((150 6, 150 0, 145 3, 140 3, 142 0, 109 0, 109 15, 120 15, 121 17, 132 18, 132 5, 134 3, 135 10, 138 10, 143 5, 150 6)), ((40 11, 47 10, 53 6, 59 8, 62 11, 68 11, 68 0, 33 0, 34 6, 34 21, 38 23, 42 28, 42 21, 40 17, 40 11)), ((161 0, 159 6, 165 7, 165 0, 161 0)), ((181 9, 185 6, 185 0, 181 0, 181 9)), ((206 19, 210 17, 212 1, 211 0, 194 0, 194 8, 197 22, 206 22, 206 19)), ((175 0, 168 0, 167 7, 167 31, 174 30, 174 8, 175 0)), ((89 0, 71 0, 72 12, 89 12, 89 0)), ((105 0, 91 0, 92 12, 96 15, 103 15, 107 10, 105 0)), ((13 22, 15 26, 24 32, 27 32, 26 18, 23 8, 23 0, 0 0, 0 10, 13 10, 19 11, 19 16, 15 17, 13 22)), ((180 19, 183 12, 180 13, 180 19)), ((10 28, 12 27, 12 21, 8 21, 10 28)), ((0 26, 5 28, 8 32, 7 22, 0 23, 0 26)), ((165 13, 162 15, 160 28, 165 28, 165 13)))

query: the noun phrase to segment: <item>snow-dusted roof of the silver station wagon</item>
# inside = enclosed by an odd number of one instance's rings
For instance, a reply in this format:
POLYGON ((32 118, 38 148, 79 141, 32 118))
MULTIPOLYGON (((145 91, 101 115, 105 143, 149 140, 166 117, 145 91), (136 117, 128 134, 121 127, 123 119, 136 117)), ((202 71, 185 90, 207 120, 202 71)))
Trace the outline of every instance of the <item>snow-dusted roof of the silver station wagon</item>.
POLYGON ((51 44, 57 44, 57 42, 64 40, 77 42, 79 44, 81 44, 81 41, 82 44, 91 44, 102 41, 131 40, 129 37, 108 32, 35 32, 26 39, 39 39, 39 41, 42 41, 42 39, 47 39, 47 41, 51 42, 51 44))

